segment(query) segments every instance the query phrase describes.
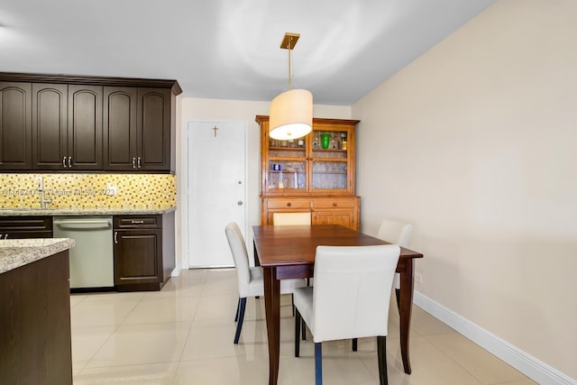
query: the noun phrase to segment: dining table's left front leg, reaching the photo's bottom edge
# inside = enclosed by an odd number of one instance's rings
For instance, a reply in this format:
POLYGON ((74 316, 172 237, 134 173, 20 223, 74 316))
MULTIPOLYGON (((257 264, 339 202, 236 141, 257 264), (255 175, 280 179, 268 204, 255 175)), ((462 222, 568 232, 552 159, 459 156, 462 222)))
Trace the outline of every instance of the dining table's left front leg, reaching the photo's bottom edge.
POLYGON ((279 378, 280 349, 280 281, 276 268, 262 268, 264 278, 264 308, 269 338, 269 385, 276 385, 279 378))

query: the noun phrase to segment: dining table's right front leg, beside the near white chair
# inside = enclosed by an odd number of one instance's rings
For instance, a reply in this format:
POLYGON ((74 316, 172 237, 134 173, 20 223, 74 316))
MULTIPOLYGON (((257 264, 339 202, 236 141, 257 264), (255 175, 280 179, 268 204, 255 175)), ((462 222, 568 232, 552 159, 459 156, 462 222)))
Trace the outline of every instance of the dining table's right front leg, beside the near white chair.
POLYGON ((411 362, 408 357, 408 336, 411 328, 411 309, 413 306, 413 260, 405 262, 405 269, 400 271, 400 298, 399 298, 399 324, 400 324, 400 353, 403 358, 403 367, 407 374, 411 373, 411 362))

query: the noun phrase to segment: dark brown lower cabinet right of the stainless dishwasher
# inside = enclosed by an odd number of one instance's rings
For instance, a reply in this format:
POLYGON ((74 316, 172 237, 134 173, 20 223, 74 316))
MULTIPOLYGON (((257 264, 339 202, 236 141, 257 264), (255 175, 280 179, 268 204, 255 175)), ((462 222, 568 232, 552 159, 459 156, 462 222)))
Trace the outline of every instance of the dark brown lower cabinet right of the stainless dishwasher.
POLYGON ((160 290, 174 270, 174 212, 114 216, 114 287, 160 290))

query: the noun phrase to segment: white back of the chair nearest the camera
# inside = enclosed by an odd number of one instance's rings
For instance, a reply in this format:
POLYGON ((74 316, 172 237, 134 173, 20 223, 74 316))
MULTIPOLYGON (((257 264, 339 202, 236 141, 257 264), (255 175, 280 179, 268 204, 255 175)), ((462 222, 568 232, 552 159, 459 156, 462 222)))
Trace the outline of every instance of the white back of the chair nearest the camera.
POLYGON ((399 253, 396 244, 316 248, 315 342, 387 335, 399 253))

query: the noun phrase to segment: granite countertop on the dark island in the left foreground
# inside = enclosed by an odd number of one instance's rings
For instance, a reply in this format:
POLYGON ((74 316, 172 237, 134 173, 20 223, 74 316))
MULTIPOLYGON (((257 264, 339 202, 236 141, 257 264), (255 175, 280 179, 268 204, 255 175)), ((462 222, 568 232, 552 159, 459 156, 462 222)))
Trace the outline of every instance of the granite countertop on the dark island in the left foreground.
POLYGON ((68 250, 69 238, 7 239, 0 241, 0 274, 68 250))

